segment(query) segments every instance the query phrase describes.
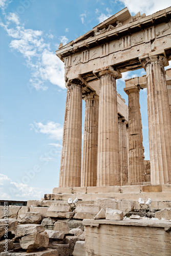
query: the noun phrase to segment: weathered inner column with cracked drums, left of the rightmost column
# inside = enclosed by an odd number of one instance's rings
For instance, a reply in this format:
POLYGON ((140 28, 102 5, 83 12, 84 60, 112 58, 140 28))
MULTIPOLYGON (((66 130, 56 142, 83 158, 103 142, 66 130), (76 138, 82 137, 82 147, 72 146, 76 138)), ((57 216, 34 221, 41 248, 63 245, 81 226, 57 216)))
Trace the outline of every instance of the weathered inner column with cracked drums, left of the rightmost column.
POLYGON ((142 122, 137 87, 125 88, 129 100, 129 183, 145 182, 142 122))

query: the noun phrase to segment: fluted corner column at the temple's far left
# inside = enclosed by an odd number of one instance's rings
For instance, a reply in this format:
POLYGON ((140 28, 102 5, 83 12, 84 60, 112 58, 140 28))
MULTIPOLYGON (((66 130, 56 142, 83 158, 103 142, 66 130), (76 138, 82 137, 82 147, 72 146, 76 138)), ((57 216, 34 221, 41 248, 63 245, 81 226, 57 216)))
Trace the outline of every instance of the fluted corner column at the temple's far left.
POLYGON ((66 112, 59 174, 59 187, 77 187, 81 182, 82 89, 78 79, 67 86, 66 112))

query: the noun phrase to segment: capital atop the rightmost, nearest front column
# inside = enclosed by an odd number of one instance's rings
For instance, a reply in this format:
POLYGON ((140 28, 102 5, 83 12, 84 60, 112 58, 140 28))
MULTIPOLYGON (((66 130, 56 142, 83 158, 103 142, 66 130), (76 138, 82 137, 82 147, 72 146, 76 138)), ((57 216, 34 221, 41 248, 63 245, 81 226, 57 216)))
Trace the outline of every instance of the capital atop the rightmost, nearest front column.
POLYGON ((162 62, 162 64, 165 66, 168 66, 168 59, 164 56, 164 54, 158 54, 158 55, 149 55, 142 58, 139 57, 140 62, 142 63, 142 67, 144 70, 146 70, 146 66, 151 62, 162 62))

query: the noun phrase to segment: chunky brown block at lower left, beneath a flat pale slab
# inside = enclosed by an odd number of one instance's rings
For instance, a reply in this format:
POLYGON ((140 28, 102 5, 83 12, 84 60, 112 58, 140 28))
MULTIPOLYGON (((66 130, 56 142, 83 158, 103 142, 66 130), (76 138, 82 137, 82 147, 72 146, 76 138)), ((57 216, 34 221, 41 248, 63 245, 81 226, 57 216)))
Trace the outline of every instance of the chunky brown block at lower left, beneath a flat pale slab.
POLYGON ((46 231, 28 234, 19 240, 22 249, 37 249, 48 247, 49 237, 46 231))

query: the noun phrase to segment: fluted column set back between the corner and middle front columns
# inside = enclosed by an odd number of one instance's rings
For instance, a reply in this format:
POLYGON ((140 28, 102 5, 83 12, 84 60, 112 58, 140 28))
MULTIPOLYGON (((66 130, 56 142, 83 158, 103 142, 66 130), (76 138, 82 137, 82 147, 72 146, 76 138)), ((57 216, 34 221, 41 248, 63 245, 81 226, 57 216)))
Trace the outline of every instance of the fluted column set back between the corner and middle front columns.
POLYGON ((82 148, 81 186, 96 186, 99 96, 83 97, 86 101, 82 148))

